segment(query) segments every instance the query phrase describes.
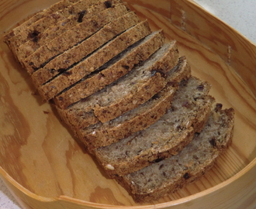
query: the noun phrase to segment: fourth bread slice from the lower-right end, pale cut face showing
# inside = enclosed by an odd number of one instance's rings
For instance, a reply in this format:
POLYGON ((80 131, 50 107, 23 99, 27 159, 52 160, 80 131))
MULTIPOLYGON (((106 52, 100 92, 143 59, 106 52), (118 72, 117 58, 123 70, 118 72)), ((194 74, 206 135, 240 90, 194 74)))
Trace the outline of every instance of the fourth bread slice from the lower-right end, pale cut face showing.
POLYGON ((170 56, 172 46, 173 43, 165 44, 141 66, 92 96, 67 109, 57 108, 59 115, 71 127, 85 128, 99 121, 107 122, 137 108, 166 85, 164 73, 160 74, 156 70, 168 72, 178 63, 178 60, 170 56), (109 108, 109 111, 105 115, 96 115, 95 109, 101 107, 109 108))

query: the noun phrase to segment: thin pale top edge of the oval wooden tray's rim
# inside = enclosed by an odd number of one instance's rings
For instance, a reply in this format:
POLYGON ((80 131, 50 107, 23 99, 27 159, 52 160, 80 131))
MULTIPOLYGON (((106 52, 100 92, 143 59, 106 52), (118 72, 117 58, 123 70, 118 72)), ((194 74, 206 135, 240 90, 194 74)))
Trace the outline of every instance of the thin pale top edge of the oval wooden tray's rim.
MULTIPOLYGON (((204 9, 201 5, 199 5, 197 2, 193 1, 193 0, 185 0, 187 2, 192 3, 193 5, 195 5, 196 7, 199 7, 200 9, 204 10, 205 12, 208 12, 206 9, 204 9)), ((238 36, 240 36, 242 39, 244 39, 247 43, 250 43, 252 47, 254 47, 256 49, 256 43, 254 43, 253 41, 251 41, 251 39, 248 39, 246 36, 244 36, 242 33, 238 32, 236 29, 234 29, 233 27, 229 26, 226 22, 223 22, 223 20, 221 20, 220 18, 216 17, 216 15, 213 15, 212 13, 208 12, 214 19, 217 19, 218 21, 222 22, 225 26, 227 26, 228 28, 230 28, 231 30, 234 31, 234 33, 237 33, 238 36)), ((189 36, 191 36, 190 34, 188 34, 189 36)), ((204 43, 205 44, 205 43, 204 43)), ((216 53, 216 52, 215 52, 216 53)), ((240 78, 241 80, 243 80, 242 78, 240 78)), ((255 98, 254 94, 251 92, 251 95, 255 98)), ((82 206, 89 206, 92 208, 134 208, 134 209, 150 209, 150 208, 165 208, 165 207, 171 207, 171 206, 175 206, 178 204, 183 204, 185 202, 189 202, 191 200, 195 200, 199 197, 203 197, 206 194, 210 194, 213 193, 216 190, 219 190, 220 188, 224 188, 227 187, 228 185, 230 185, 231 183, 234 183, 236 180, 238 180, 240 177, 244 176, 248 171, 253 170, 256 168, 256 157, 254 159, 251 160, 250 163, 247 164, 247 166, 245 166, 242 170, 240 170, 238 173, 236 173, 234 176, 231 176, 228 180, 223 181, 222 183, 218 183, 216 186, 211 187, 209 189, 203 190, 199 193, 196 194, 192 194, 188 197, 182 197, 178 200, 171 200, 168 201, 166 203, 162 203, 162 204, 150 204, 150 205, 142 205, 142 206, 119 206, 119 205, 111 205, 111 204, 97 204, 97 203, 92 203, 90 201, 85 201, 85 200, 80 200, 80 199, 76 199, 74 197, 67 197, 64 195, 61 195, 59 197, 43 197, 37 194, 34 194, 33 192, 31 192, 30 190, 26 189, 25 187, 22 187, 22 185, 20 183, 18 183, 16 180, 14 180, 12 178, 12 176, 9 176, 9 173, 5 172, 5 170, 2 168, 2 166, 0 166, 0 178, 3 180, 3 182, 5 183, 5 185, 8 187, 7 183, 5 181, 8 181, 9 183, 12 184, 12 186, 16 187, 17 190, 21 191, 23 194, 25 194, 27 197, 31 197, 34 200, 38 200, 40 202, 45 202, 45 203, 50 203, 50 202, 56 202, 56 201, 69 201, 71 203, 74 204, 80 204, 82 206)), ((256 173, 256 172, 254 172, 256 173)), ((11 190, 12 192, 12 190, 11 190)), ((18 200, 19 202, 19 200, 18 200)))

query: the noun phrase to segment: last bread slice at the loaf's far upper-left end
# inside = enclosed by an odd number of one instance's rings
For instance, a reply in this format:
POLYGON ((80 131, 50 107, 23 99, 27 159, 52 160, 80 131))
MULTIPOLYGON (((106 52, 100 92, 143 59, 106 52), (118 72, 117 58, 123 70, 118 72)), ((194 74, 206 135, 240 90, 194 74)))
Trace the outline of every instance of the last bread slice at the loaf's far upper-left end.
POLYGON ((19 34, 22 30, 26 29, 28 26, 31 26, 37 20, 42 19, 43 17, 50 15, 51 13, 57 12, 58 10, 64 9, 65 7, 78 1, 79 0, 62 0, 60 2, 55 3, 54 5, 51 5, 48 9, 43 9, 43 11, 37 12, 35 15, 29 18, 26 22, 22 22, 22 24, 20 24, 19 26, 16 26, 16 28, 10 30, 9 33, 6 33, 4 36, 5 43, 9 44, 9 39, 19 34))

